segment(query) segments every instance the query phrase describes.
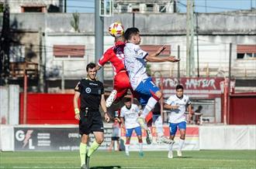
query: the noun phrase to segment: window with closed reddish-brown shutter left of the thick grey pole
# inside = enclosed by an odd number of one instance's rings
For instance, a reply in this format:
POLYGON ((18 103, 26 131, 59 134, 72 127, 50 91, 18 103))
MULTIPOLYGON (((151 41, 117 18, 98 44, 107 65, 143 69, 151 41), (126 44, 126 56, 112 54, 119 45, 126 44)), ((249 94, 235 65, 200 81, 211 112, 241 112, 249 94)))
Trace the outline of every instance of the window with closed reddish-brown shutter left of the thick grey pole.
POLYGON ((54 45, 55 58, 83 58, 85 46, 54 45))

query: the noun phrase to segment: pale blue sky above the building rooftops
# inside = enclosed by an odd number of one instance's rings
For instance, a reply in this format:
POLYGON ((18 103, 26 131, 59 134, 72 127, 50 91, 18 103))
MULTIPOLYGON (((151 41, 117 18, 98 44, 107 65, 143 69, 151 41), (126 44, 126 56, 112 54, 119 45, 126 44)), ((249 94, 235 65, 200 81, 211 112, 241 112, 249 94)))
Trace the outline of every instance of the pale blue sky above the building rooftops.
MULTIPOLYGON (((187 0, 178 0, 180 12, 186 12, 186 4, 187 0)), ((195 12, 227 12, 251 8, 256 8, 256 0, 195 0, 195 12)), ((94 11, 95 0, 67 0, 67 12, 94 11)))

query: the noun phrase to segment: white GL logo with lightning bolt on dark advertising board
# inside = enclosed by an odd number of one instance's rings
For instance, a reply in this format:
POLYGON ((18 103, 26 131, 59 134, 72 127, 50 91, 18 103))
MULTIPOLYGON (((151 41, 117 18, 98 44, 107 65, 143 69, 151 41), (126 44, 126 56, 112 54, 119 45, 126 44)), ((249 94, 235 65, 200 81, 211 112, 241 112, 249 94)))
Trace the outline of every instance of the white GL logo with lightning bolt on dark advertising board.
POLYGON ((26 134, 23 130, 17 130, 15 137, 16 140, 18 141, 23 141, 23 145, 22 148, 24 148, 26 146, 26 144, 29 144, 29 149, 35 149, 35 147, 33 146, 33 140, 31 137, 31 134, 33 133, 33 130, 27 130, 26 134))

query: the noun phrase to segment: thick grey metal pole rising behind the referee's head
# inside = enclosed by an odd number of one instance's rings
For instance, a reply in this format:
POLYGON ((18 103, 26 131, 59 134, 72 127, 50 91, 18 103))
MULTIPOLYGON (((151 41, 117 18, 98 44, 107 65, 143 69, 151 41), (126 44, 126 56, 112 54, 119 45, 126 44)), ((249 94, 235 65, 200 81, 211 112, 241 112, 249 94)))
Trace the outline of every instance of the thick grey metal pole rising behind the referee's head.
MULTIPOLYGON (((99 12, 100 12, 99 5, 101 2, 104 3, 104 1, 102 0, 95 0, 95 63, 98 63, 98 60, 102 57, 103 46, 104 46, 104 43, 103 43, 104 18, 99 15, 99 12)), ((97 73, 97 77, 99 81, 101 81, 102 83, 104 83, 103 69, 104 68, 102 67, 102 69, 99 69, 97 73)))

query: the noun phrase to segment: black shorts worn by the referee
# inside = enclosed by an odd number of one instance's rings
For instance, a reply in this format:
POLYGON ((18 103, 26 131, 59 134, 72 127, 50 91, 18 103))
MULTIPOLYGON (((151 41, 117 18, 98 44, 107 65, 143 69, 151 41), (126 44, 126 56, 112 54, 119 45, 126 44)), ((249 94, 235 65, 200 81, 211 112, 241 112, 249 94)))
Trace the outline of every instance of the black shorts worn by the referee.
POLYGON ((88 111, 88 116, 85 117, 85 112, 80 112, 79 134, 92 134, 94 131, 104 132, 102 116, 99 111, 88 111))

